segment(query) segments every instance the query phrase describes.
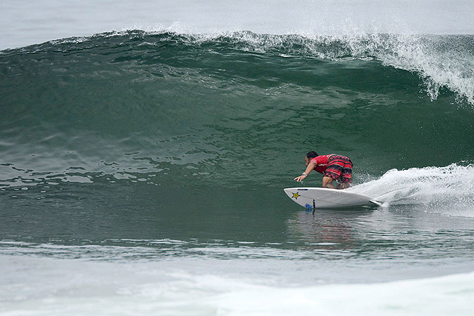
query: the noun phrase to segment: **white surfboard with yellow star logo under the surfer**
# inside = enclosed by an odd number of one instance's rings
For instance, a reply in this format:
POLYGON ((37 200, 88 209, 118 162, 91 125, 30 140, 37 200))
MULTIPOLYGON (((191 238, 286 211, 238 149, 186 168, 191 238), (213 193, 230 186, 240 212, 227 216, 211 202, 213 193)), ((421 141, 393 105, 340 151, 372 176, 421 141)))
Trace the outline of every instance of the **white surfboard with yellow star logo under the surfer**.
POLYGON ((335 209, 349 206, 380 206, 371 197, 357 195, 346 190, 322 187, 289 187, 284 189, 288 197, 306 209, 335 209))

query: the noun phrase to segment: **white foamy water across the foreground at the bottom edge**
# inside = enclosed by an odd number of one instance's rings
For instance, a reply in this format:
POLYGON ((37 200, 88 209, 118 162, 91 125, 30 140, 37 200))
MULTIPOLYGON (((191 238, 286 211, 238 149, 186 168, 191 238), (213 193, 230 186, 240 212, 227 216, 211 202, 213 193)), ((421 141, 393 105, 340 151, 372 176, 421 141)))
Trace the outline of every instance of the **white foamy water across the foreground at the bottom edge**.
MULTIPOLYGON (((247 270, 254 267, 245 263, 247 270)), ((1 314, 463 316, 474 304, 474 272, 301 285, 272 273, 242 274, 242 267, 236 273, 234 265, 218 268, 224 263, 188 264, 0 256, 1 314)))

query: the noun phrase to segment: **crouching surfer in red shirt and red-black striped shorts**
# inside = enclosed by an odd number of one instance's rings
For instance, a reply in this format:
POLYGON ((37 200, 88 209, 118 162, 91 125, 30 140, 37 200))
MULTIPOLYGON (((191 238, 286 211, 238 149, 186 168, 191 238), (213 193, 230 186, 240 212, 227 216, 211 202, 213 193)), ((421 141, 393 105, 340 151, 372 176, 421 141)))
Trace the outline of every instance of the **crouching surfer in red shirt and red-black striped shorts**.
POLYGON ((315 170, 323 174, 322 187, 331 189, 345 189, 350 187, 353 173, 353 162, 348 157, 340 154, 325 154, 319 156, 317 152, 308 152, 305 157, 306 170, 301 176, 294 180, 301 182, 308 174, 315 170), (338 185, 334 187, 332 182, 336 180, 338 185))

